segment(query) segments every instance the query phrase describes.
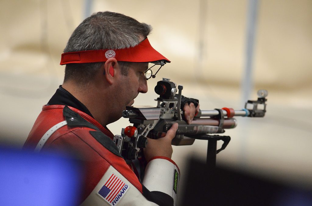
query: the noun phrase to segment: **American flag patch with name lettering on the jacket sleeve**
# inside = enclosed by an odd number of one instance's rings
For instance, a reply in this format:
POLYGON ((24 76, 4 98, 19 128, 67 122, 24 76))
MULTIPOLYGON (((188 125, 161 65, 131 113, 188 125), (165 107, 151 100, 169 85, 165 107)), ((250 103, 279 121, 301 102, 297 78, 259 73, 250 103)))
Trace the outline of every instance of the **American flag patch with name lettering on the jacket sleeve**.
POLYGON ((113 173, 97 194, 104 198, 110 205, 114 206, 124 196, 128 189, 129 185, 124 183, 124 181, 113 173))

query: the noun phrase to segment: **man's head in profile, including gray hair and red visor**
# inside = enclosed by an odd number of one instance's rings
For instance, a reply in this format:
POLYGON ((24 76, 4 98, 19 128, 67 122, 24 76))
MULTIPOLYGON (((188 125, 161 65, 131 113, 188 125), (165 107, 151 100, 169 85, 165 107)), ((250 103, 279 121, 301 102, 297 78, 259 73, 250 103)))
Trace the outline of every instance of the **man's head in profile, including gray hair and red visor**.
POLYGON ((170 62, 149 44, 150 31, 151 26, 129 16, 98 12, 68 40, 61 57, 61 65, 66 64, 62 87, 100 124, 118 120, 139 93, 147 92, 144 72, 150 62, 170 62))

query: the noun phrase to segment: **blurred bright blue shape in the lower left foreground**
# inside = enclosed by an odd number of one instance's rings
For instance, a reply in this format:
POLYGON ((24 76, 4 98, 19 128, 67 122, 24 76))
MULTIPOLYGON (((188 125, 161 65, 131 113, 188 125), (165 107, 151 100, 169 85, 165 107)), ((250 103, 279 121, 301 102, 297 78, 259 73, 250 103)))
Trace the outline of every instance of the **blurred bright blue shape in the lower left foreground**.
POLYGON ((0 147, 0 205, 77 205, 81 166, 53 152, 0 147))

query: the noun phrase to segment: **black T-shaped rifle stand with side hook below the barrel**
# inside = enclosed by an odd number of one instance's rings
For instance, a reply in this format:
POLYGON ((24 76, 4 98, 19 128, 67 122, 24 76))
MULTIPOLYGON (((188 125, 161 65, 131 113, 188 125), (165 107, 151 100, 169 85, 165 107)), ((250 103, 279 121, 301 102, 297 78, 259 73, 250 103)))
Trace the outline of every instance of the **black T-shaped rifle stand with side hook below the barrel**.
POLYGON ((208 140, 207 165, 211 168, 216 166, 217 153, 224 150, 225 147, 227 147, 228 143, 231 140, 230 136, 209 135, 209 134, 203 134, 200 136, 194 135, 194 136, 189 136, 189 137, 195 138, 195 139, 208 140), (217 141, 218 140, 222 140, 223 144, 222 144, 222 147, 217 150, 217 141))

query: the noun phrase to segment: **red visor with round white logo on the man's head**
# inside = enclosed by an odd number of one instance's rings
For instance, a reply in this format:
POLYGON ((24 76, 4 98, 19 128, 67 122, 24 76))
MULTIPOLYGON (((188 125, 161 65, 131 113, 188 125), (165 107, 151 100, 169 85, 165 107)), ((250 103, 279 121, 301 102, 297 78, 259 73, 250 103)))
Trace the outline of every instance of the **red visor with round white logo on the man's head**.
POLYGON ((166 57, 151 46, 146 38, 135 47, 125 49, 100 49, 63 53, 60 64, 106 62, 110 58, 124 62, 164 61, 170 63, 166 57))

